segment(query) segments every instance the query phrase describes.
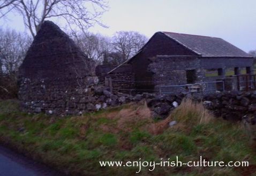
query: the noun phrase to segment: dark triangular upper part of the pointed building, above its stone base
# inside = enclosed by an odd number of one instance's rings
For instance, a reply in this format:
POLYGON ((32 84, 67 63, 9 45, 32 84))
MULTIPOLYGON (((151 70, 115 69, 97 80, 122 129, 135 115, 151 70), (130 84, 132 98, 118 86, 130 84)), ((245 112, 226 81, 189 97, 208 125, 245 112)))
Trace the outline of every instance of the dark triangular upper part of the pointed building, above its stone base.
POLYGON ((44 21, 20 67, 27 78, 92 75, 92 61, 54 22, 44 21))

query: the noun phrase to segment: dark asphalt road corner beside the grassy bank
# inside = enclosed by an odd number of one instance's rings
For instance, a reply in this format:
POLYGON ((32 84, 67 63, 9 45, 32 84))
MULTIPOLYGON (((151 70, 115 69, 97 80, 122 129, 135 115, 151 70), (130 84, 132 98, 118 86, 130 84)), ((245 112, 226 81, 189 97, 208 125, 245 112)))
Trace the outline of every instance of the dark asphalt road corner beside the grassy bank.
POLYGON ((10 149, 0 146, 0 175, 2 176, 35 176, 63 174, 49 167, 36 163, 23 155, 17 154, 10 149))

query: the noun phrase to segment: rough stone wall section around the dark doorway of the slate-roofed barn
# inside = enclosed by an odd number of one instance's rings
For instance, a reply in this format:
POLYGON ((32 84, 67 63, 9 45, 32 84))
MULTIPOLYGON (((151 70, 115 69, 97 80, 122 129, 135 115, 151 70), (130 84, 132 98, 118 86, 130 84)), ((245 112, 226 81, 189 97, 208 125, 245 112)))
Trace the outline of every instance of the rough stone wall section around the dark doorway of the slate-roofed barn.
MULTIPOLYGON (((162 85, 187 84, 186 70, 195 70, 195 83, 204 79, 204 70, 200 68, 200 60, 193 56, 157 56, 151 59, 148 70, 153 73, 155 90, 162 85)), ((169 92, 181 92, 184 87, 169 87, 169 92)))

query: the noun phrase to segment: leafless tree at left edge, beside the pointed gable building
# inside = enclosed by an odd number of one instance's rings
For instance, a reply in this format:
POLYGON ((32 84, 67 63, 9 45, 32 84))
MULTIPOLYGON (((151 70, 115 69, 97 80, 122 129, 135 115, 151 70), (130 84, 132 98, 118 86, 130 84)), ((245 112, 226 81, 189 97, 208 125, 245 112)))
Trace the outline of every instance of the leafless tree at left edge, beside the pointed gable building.
POLYGON ((18 68, 32 38, 25 33, 0 28, 0 98, 17 96, 18 68))

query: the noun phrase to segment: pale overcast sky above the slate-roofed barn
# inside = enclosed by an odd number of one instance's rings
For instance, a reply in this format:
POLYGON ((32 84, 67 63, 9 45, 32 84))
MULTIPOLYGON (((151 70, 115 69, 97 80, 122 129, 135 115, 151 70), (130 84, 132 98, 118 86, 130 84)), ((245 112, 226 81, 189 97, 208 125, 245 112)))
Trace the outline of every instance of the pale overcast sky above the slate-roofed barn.
MULTIPOLYGON (((135 30, 147 37, 156 31, 221 37, 248 52, 256 49, 256 0, 109 0, 102 21, 90 31, 109 35, 135 30)), ((10 15, 0 26, 24 30, 10 15)))

